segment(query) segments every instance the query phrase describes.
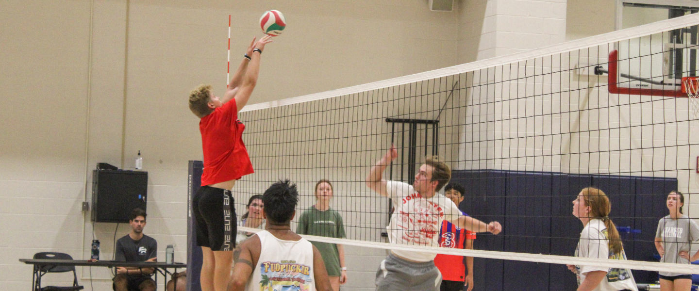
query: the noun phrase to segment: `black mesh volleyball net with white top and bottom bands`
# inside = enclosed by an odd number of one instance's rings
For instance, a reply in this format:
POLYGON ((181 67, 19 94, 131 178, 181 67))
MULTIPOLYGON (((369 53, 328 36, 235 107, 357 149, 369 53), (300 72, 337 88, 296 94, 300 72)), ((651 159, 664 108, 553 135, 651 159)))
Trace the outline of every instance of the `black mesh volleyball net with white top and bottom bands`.
MULTIPOLYGON (((689 15, 248 105, 239 117, 255 173, 233 188, 237 213, 247 212, 252 195, 290 179, 301 195, 295 230, 317 202, 317 182, 327 179, 345 238, 311 240, 482 258, 479 269, 496 272, 482 274, 486 279, 512 272, 574 282, 563 264, 633 269, 637 282, 656 281, 654 271, 699 274, 691 264, 658 262, 654 246, 670 191, 685 193, 685 217, 696 215, 689 201, 699 190, 699 124, 681 84, 696 76, 698 24, 689 15), (425 156, 440 156, 452 168, 452 182, 466 188, 461 208, 481 221, 499 221, 503 232, 478 234, 473 251, 389 244, 392 201, 365 179, 391 144, 398 158, 384 179, 412 184, 425 156), (583 225, 572 201, 587 186, 609 197, 609 217, 629 260, 573 256, 583 225)), ((564 281, 550 284, 563 290, 564 281)))

